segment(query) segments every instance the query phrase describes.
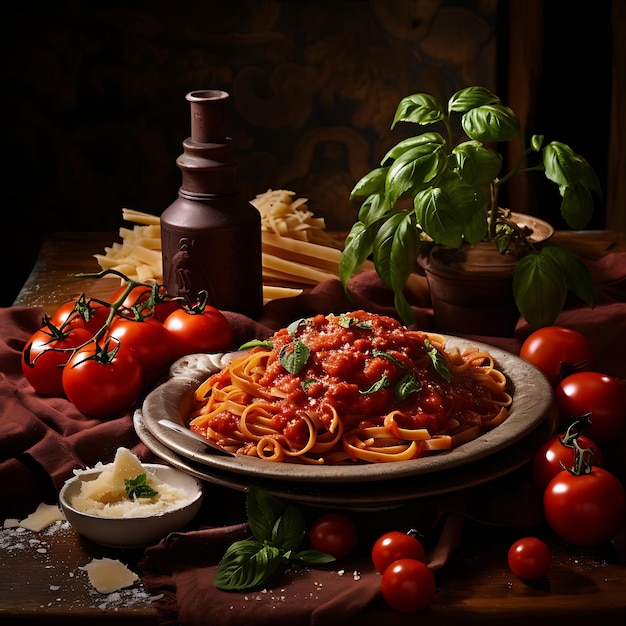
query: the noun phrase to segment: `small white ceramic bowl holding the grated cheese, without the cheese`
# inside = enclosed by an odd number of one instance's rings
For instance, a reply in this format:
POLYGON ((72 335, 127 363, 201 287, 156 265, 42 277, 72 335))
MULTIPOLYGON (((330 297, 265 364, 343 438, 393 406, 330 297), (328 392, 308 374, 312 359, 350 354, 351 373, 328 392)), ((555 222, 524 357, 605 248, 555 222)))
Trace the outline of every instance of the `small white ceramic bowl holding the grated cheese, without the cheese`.
POLYGON ((80 492, 83 481, 95 480, 102 472, 101 467, 96 467, 68 479, 61 488, 59 504, 66 519, 84 537, 111 548, 145 547, 183 528, 200 509, 204 497, 202 482, 167 465, 144 463, 143 467, 160 481, 184 491, 189 498, 178 508, 142 517, 103 517, 84 513, 71 505, 72 498, 80 492))

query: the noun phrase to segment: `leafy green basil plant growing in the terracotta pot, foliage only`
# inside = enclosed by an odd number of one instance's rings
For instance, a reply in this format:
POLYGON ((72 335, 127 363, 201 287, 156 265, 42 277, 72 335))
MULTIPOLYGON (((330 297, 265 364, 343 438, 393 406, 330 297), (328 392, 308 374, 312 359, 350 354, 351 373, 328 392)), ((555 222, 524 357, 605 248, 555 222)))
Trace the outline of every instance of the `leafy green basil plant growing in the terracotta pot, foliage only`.
POLYGON ((405 324, 414 321, 403 289, 426 242, 450 248, 492 241, 501 253, 519 253, 513 278, 517 308, 535 328, 550 325, 572 291, 593 306, 587 268, 573 253, 552 244, 529 241, 498 203, 500 187, 520 172, 539 172, 558 186, 561 215, 582 229, 593 214, 593 194, 600 194, 592 167, 569 146, 544 143, 533 135, 525 145, 515 113, 484 87, 455 93, 447 109, 433 96, 403 98, 392 128, 399 122, 437 125, 400 141, 380 167, 357 182, 351 198, 364 197, 358 219, 345 241, 339 272, 347 289, 351 276, 371 257, 378 276, 394 292, 395 307, 405 324), (452 122, 460 120, 463 139, 453 143, 452 122), (519 141, 522 150, 503 174, 502 157, 487 144, 519 141), (532 162, 534 161, 534 162, 532 162))

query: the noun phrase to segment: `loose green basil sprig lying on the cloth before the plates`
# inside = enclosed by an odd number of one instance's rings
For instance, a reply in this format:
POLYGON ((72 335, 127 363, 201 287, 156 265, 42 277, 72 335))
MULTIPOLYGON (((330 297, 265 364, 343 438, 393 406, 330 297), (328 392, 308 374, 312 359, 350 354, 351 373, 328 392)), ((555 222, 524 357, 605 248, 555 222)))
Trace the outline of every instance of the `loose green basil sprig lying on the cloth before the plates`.
POLYGON ((299 550, 306 523, 302 511, 258 487, 246 499, 252 538, 233 543, 215 573, 215 586, 224 591, 252 589, 267 582, 285 565, 321 565, 335 557, 318 550, 299 550))

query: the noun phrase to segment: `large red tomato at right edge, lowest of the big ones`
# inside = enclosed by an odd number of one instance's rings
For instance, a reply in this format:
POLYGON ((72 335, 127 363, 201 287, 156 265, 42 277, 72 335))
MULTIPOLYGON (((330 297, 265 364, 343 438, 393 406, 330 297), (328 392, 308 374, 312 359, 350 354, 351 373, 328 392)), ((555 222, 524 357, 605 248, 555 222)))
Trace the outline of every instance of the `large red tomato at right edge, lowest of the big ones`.
POLYGON ((626 491, 601 467, 580 475, 563 470, 546 487, 543 509, 550 528, 576 546, 610 541, 626 522, 626 491))

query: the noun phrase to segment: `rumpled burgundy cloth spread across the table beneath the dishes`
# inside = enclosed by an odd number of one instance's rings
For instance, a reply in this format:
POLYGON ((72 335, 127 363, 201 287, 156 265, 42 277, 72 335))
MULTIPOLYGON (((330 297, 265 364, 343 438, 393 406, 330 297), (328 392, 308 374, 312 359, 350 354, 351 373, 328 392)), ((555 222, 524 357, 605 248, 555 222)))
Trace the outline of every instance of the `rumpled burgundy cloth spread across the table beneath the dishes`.
MULTIPOLYGON (((588 265, 596 286, 596 307, 572 303, 557 324, 587 335, 596 348, 598 369, 626 379, 626 255, 609 254, 588 265)), ((294 319, 317 313, 363 308, 395 315, 391 293, 373 272, 356 275, 350 287, 351 297, 339 281, 328 281, 310 293, 270 302, 259 320, 226 312, 234 329, 234 344, 267 337, 294 319)), ((436 330, 422 277, 413 277, 408 298, 416 312, 416 326, 436 330)), ((65 399, 45 398, 34 392, 22 376, 20 356, 28 337, 40 326, 42 315, 38 308, 0 309, 0 485, 4 496, 0 499, 0 519, 21 517, 42 500, 54 501, 75 468, 109 462, 119 446, 132 449, 144 461, 158 460, 138 440, 131 411, 96 420, 79 413, 65 399)), ((530 332, 520 320, 514 337, 476 339, 517 353, 530 332)), ((219 626, 271 620, 278 624, 373 624, 380 619, 385 610, 378 593, 380 578, 365 554, 325 568, 288 572, 283 580, 259 592, 217 591, 212 580, 221 554, 234 539, 247 536, 244 496, 216 485, 206 487, 196 530, 173 534, 149 548, 142 563, 144 583, 151 592, 164 594, 159 603, 164 623, 178 620, 182 625, 219 626)), ((464 517, 522 526, 537 521, 536 494, 529 492, 528 484, 517 475, 473 490, 471 502, 465 495, 453 494, 443 501, 420 500, 416 505, 394 509, 393 514, 368 512, 359 516, 359 523, 362 532, 371 533, 371 537, 390 525, 417 526, 427 534, 429 558, 438 567, 454 549, 464 517)), ((403 623, 401 616, 394 619, 403 623)))

